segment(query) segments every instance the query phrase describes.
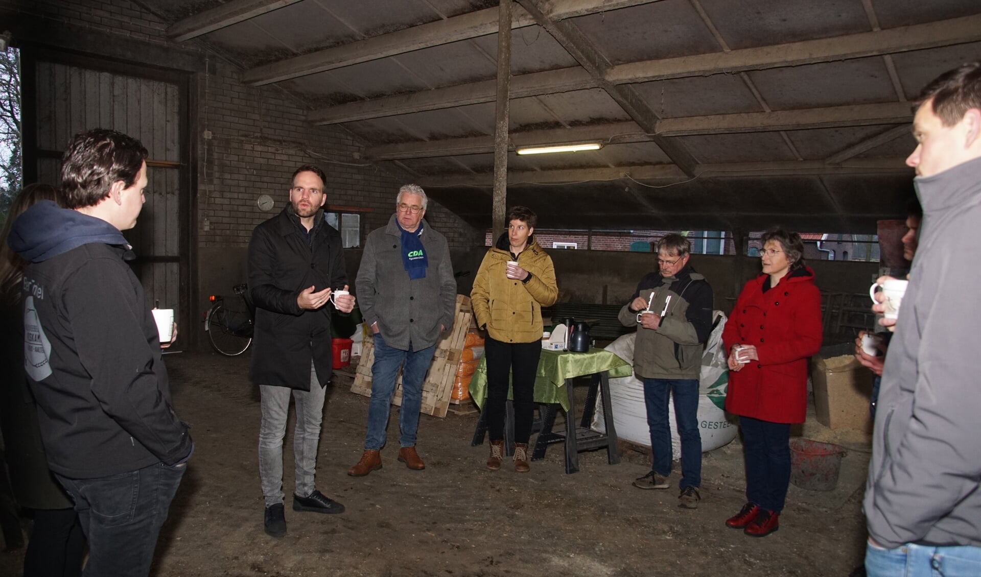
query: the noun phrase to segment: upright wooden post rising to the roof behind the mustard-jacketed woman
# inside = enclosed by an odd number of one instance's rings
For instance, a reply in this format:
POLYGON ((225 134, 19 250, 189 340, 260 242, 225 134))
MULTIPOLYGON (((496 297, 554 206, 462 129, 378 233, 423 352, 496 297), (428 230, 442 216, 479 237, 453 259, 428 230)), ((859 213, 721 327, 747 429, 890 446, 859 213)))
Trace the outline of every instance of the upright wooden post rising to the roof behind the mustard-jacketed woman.
POLYGON ((507 226, 507 136, 511 91, 511 0, 500 0, 497 6, 497 106, 493 132, 493 235, 497 241, 507 226))

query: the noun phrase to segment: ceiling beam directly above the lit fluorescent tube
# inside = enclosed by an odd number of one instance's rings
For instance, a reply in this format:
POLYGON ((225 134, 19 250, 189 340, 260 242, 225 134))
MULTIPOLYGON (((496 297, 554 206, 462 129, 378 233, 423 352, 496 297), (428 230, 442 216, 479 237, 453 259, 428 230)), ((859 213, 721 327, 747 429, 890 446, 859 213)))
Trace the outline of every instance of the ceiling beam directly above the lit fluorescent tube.
MULTIPOLYGON (((734 132, 769 132, 777 130, 801 130, 809 128, 832 128, 837 126, 862 126, 869 124, 892 124, 908 122, 912 119, 909 106, 902 102, 889 104, 860 104, 795 111, 776 111, 768 113, 744 113, 735 115, 711 115, 663 119, 656 122, 656 134, 660 136, 691 136, 697 134, 727 134, 734 132)), ((908 126, 900 127, 900 132, 908 132, 908 126)), ((899 132, 890 140, 899 136, 899 132)), ((857 150, 852 158, 865 150, 875 148, 888 140, 865 141, 868 148, 857 150)), ((576 142, 602 142, 603 144, 623 144, 650 142, 648 135, 636 122, 611 122, 591 124, 571 128, 513 132, 510 135, 510 149, 519 146, 545 144, 571 144, 576 142)), ((849 149, 850 151, 852 149, 849 149)), ((447 138, 427 142, 400 142, 370 146, 365 149, 365 158, 373 161, 394 161, 403 159, 436 158, 469 154, 490 154, 493 152, 492 136, 473 136, 468 138, 447 138)), ((847 151, 838 153, 847 154, 847 151)), ((837 157, 838 155, 836 155, 837 157)), ((831 157, 832 159, 836 157, 831 157)), ((835 164, 829 160, 828 164, 835 164)))

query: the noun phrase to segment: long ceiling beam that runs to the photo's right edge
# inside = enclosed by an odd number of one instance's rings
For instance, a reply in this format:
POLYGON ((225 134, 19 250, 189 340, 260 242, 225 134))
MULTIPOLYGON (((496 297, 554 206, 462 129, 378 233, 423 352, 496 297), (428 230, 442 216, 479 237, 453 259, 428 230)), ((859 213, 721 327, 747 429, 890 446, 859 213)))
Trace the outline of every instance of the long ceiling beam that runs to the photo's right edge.
MULTIPOLYGON (((930 24, 914 24, 875 32, 859 32, 834 38, 805 40, 668 58, 612 67, 605 79, 622 84, 666 78, 711 75, 723 72, 761 70, 860 58, 871 54, 898 53, 981 40, 981 16, 969 16, 930 24)), ((595 88, 598 82, 580 68, 532 72, 512 77, 512 98, 539 96, 595 88), (524 87, 516 92, 518 87, 524 87)), ((342 104, 309 113, 316 124, 369 120, 466 104, 492 102, 494 81, 458 84, 435 90, 388 96, 365 102, 342 104)))

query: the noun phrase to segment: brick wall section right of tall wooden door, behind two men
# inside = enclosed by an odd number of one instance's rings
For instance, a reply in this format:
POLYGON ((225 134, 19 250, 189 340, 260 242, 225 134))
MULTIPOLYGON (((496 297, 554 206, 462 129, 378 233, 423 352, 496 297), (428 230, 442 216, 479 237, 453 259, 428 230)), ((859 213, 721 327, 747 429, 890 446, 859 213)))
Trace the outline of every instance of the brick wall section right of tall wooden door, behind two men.
MULTIPOLYGON (((209 72, 198 90, 206 105, 201 132, 211 133, 210 138, 200 136, 201 246, 246 244, 256 224, 283 209, 290 175, 304 164, 327 173, 326 208, 360 213, 365 234, 387 223, 406 178, 355 158, 364 147, 349 132, 307 123, 304 111, 282 91, 241 84, 239 71, 221 60, 209 60, 209 72), (276 200, 270 213, 255 204, 263 193, 276 200)), ((435 201, 430 201, 426 218, 446 235, 451 249, 479 242, 476 229, 435 201)))

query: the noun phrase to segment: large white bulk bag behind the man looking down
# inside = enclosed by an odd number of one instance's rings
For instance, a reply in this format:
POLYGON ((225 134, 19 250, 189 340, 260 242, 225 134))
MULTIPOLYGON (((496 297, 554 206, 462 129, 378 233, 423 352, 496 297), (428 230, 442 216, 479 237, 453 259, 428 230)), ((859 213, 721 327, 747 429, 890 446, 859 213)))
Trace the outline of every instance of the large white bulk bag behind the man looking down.
MULTIPOLYGON (((730 422, 723 409, 729 377, 725 350, 722 347, 722 328, 726 322, 726 315, 716 311, 712 317, 717 322, 706 343, 698 379, 697 417, 702 452, 712 451, 731 443, 737 434, 735 420, 730 422)), ((623 335, 610 343, 606 350, 633 365, 636 337, 636 332, 623 335)), ((649 448, 650 429, 647 427, 644 383, 633 375, 610 379, 610 403, 617 437, 649 448)), ((668 400, 668 418, 671 425, 671 454, 677 460, 681 458, 681 438, 678 436, 678 426, 675 423, 673 399, 668 400)), ((595 431, 606 432, 602 397, 599 395, 596 396, 592 428, 595 431)))

